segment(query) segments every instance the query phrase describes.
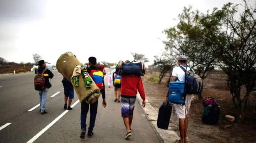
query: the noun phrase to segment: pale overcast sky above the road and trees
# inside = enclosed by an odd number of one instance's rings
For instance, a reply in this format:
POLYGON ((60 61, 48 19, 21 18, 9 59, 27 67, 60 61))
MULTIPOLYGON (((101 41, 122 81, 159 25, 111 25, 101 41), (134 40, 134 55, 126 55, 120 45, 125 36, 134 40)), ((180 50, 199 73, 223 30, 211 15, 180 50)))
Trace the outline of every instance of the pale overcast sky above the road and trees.
POLYGON ((227 2, 242 0, 0 0, 0 57, 34 62, 36 53, 55 64, 71 51, 82 63, 118 62, 137 52, 152 63, 184 6, 206 12, 227 2))

